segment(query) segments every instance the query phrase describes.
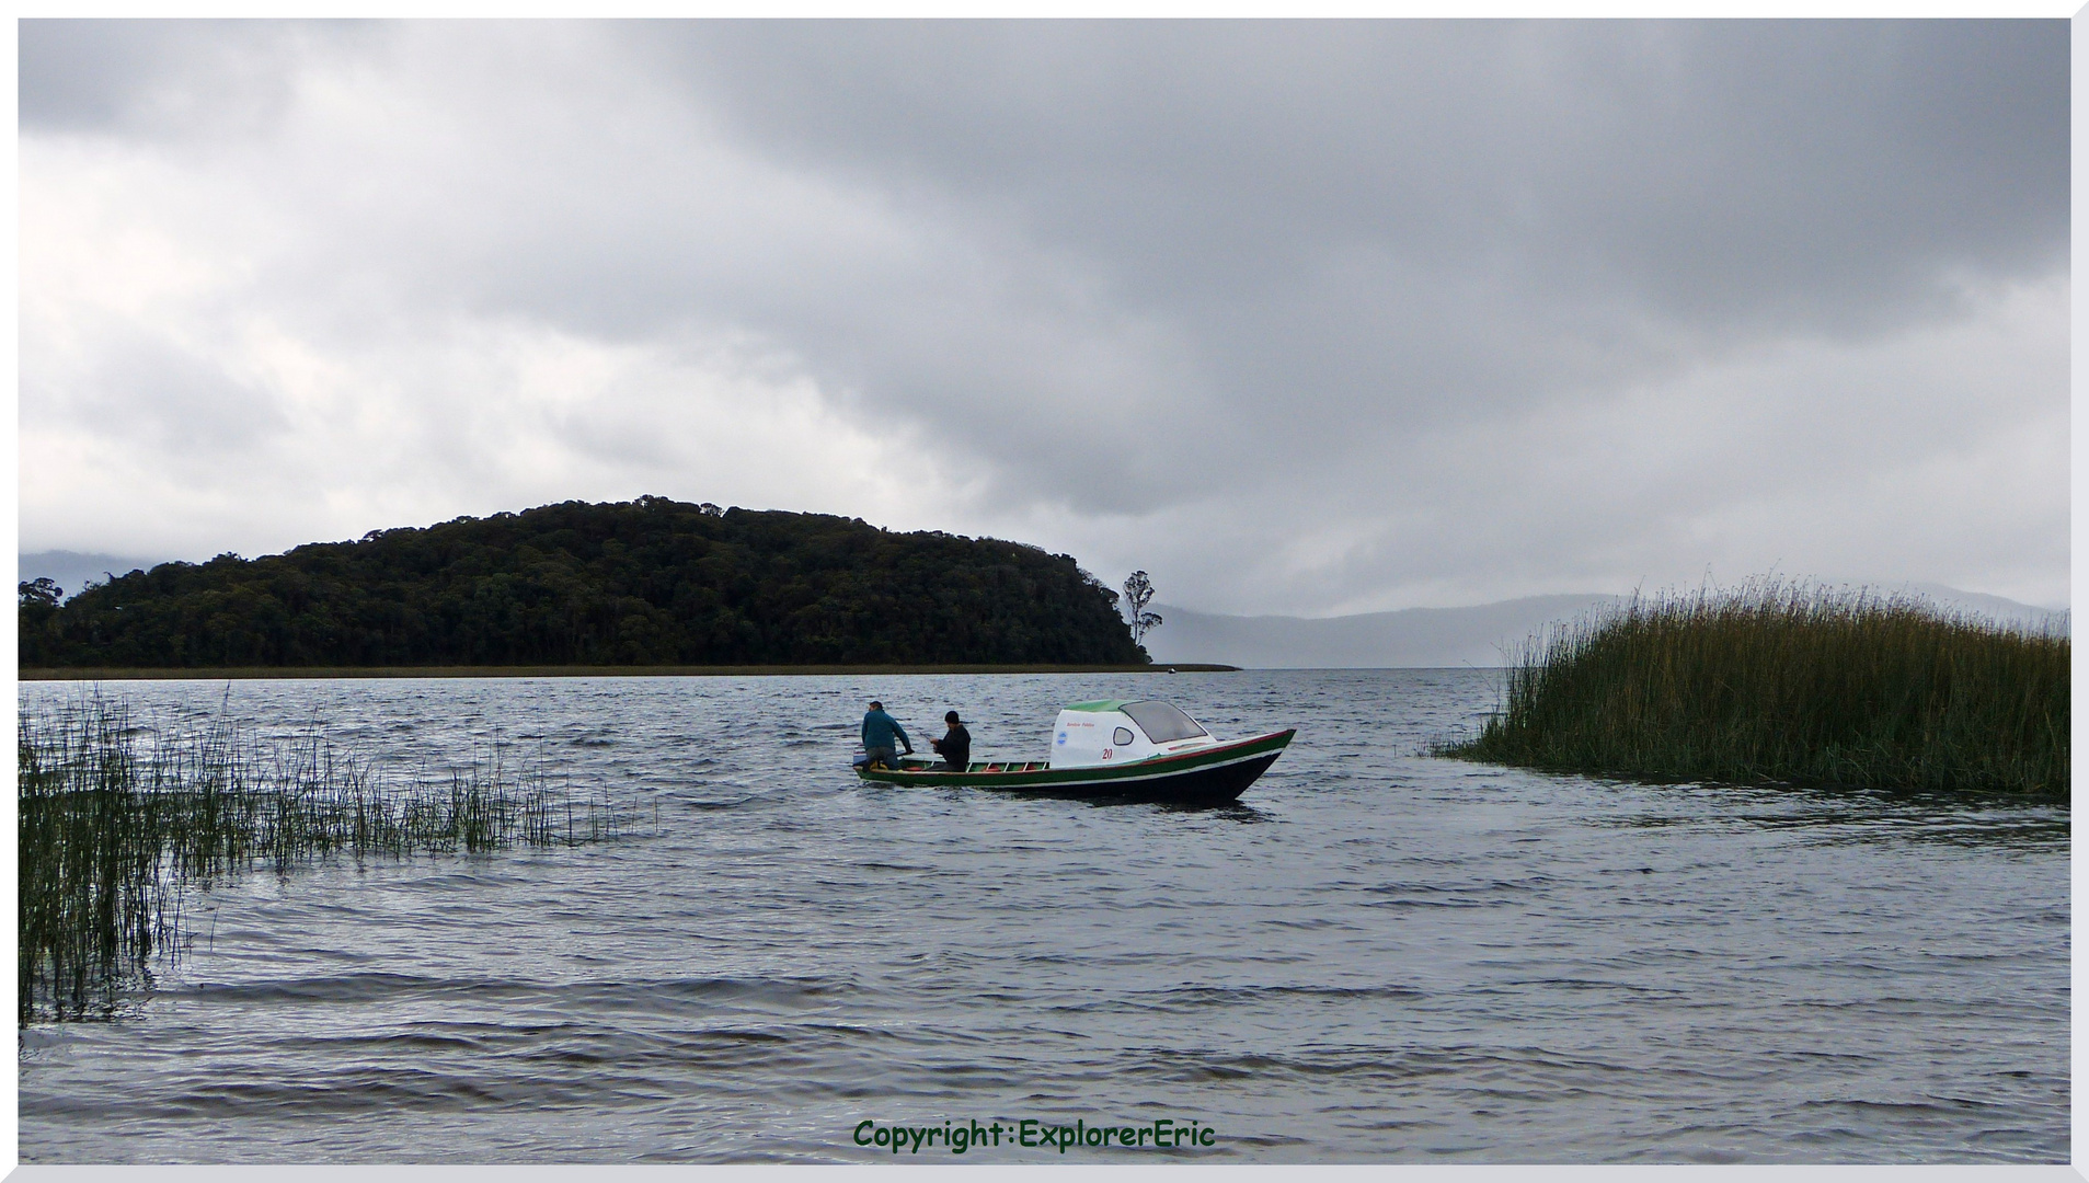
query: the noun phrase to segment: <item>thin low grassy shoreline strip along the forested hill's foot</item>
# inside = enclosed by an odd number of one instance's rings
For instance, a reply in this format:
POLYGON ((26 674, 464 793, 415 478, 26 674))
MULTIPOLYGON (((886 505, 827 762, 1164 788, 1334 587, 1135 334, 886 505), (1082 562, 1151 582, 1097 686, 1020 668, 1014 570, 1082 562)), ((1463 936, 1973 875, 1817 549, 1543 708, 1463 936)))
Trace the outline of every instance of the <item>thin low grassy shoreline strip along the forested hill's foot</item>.
POLYGON ((890 673, 1235 673, 1237 665, 301 665, 301 667, 25 667, 21 681, 242 681, 269 677, 800 677, 890 673))

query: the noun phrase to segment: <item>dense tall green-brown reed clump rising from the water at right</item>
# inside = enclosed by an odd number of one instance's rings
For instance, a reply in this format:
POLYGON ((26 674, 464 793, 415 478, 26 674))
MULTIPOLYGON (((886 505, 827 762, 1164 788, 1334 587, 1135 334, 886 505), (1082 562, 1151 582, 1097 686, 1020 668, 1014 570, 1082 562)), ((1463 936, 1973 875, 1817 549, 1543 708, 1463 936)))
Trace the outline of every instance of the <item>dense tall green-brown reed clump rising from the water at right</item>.
POLYGON ((1652 780, 2068 794, 2068 660, 1924 600, 1755 583, 1533 637, 1437 755, 1652 780))

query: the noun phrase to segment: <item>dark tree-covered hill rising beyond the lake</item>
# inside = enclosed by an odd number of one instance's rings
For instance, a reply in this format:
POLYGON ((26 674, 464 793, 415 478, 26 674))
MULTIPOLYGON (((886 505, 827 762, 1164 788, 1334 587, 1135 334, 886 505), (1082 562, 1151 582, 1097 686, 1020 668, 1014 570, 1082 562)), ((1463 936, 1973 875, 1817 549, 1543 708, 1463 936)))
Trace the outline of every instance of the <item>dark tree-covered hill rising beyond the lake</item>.
POLYGON ((23 585, 19 623, 23 667, 1147 660, 1070 556, 664 497, 23 585))

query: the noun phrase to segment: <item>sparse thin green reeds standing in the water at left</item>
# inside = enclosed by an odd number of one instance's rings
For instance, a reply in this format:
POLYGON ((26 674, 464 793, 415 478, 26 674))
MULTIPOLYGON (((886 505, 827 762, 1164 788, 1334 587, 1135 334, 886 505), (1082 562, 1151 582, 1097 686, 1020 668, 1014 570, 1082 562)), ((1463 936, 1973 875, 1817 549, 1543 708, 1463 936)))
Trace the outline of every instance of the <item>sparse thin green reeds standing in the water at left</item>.
POLYGON ((614 838, 629 811, 554 786, 503 748, 443 778, 384 775, 318 727, 152 734, 123 702, 21 715, 19 1022, 113 1014, 180 949, 188 888, 328 857, 412 857, 614 838))

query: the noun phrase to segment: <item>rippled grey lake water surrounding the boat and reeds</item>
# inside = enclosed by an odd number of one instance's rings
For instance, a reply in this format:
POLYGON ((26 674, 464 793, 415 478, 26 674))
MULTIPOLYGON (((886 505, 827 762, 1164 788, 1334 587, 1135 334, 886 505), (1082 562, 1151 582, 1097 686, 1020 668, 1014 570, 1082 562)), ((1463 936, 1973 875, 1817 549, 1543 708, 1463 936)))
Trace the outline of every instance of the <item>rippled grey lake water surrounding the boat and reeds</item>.
POLYGON ((508 742, 643 824, 198 895, 125 1018, 21 1033, 25 1162, 890 1162, 865 1120, 1009 1131, 902 1162, 2068 1158, 2066 811, 1418 755, 1487 671, 104 694, 403 769, 508 742), (976 759, 1103 696, 1299 738, 1237 809, 900 790, 848 771, 869 696, 976 759))

